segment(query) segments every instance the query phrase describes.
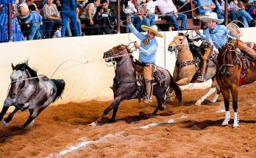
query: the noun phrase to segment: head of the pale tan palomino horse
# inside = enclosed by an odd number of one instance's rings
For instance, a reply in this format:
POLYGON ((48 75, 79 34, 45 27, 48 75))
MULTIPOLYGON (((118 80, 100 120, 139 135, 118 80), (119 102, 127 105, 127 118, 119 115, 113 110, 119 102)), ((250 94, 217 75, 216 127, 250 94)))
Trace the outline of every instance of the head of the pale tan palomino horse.
POLYGON ((183 34, 179 32, 178 35, 174 37, 174 40, 168 45, 168 51, 174 51, 175 49, 182 51, 184 46, 188 46, 187 33, 183 34))

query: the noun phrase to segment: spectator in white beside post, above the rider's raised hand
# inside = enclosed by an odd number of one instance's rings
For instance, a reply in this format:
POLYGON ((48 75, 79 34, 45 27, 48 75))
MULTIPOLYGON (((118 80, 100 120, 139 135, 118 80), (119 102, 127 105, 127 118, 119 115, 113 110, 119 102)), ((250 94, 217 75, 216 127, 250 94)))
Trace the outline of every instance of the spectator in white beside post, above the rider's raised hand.
MULTIPOLYGON (((124 1, 123 12, 124 12, 124 18, 131 17, 131 22, 132 22, 132 24, 134 24, 133 21, 134 21, 135 17, 133 15, 134 15, 134 13, 137 12, 137 10, 135 9, 134 4, 132 4, 132 1, 130 1, 130 0, 124 1)), ((129 27, 126 28, 125 32, 126 33, 129 32, 129 27)))

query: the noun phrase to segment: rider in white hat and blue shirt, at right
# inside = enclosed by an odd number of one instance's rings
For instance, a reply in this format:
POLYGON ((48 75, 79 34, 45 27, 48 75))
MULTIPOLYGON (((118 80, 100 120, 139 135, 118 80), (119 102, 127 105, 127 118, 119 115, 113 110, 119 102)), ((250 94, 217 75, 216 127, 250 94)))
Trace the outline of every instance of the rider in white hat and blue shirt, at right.
MULTIPOLYGON (((200 38, 201 39, 206 38, 210 43, 212 43, 216 47, 216 49, 220 50, 227 43, 227 41, 230 40, 229 35, 232 36, 232 33, 230 32, 230 30, 227 29, 226 26, 221 25, 224 19, 218 19, 218 16, 215 12, 210 12, 209 14, 202 16, 202 18, 200 19, 202 21, 205 21, 208 26, 207 29, 204 30, 203 35, 199 33, 200 38)), ((232 43, 234 43, 235 46, 237 46, 238 49, 240 49, 240 51, 245 52, 250 57, 252 57, 252 59, 256 60, 255 51, 249 48, 241 40, 232 40, 232 43)), ((206 61, 209 55, 210 55, 210 48, 207 48, 205 50, 205 54, 203 57, 202 78, 205 75, 206 61)))

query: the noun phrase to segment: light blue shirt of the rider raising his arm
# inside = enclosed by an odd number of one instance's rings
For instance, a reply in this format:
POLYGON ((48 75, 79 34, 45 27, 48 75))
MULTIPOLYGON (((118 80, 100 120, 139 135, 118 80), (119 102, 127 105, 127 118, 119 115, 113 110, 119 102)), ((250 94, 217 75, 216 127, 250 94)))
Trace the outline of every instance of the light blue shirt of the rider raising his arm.
POLYGON ((149 44, 144 46, 143 45, 143 40, 147 39, 146 35, 143 35, 141 32, 138 32, 137 29, 135 29, 135 26, 132 24, 128 24, 129 29, 131 29, 132 33, 138 37, 138 39, 141 40, 141 45, 140 45, 140 54, 139 54, 139 59, 142 62, 146 63, 155 63, 155 55, 157 54, 157 40, 153 38, 152 40, 149 40, 149 44))

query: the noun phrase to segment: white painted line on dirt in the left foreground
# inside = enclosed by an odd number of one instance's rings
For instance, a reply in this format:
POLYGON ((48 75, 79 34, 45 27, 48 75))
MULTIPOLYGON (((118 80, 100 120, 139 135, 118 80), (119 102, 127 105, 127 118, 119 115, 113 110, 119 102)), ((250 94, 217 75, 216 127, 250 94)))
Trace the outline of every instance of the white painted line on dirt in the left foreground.
POLYGON ((68 147, 68 148, 66 148, 63 151, 60 151, 56 156, 54 156, 54 154, 49 154, 48 158, 52 158, 52 157, 59 158, 59 157, 62 157, 63 155, 68 154, 68 153, 70 153, 72 151, 76 151, 79 148, 88 146, 88 145, 93 144, 93 143, 99 143, 100 141, 104 140, 105 138, 108 138, 108 137, 120 137, 122 133, 124 133, 124 132, 118 132, 117 134, 107 134, 104 137, 99 137, 98 140, 90 140, 90 141, 87 141, 85 139, 85 137, 80 137, 78 140, 82 141, 82 143, 79 143, 79 144, 76 144, 74 146, 68 147))

